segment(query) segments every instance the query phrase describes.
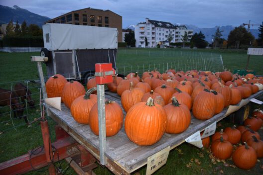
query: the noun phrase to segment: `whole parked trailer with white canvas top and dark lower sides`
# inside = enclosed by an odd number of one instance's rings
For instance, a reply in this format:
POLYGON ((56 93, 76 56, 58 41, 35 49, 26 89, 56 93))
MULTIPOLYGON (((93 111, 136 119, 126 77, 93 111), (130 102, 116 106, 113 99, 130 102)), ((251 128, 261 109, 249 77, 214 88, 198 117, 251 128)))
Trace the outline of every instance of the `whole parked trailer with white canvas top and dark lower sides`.
POLYGON ((61 74, 86 82, 94 75, 95 63, 112 63, 116 69, 117 28, 71 24, 44 24, 42 28, 40 55, 48 57, 48 77, 61 74))

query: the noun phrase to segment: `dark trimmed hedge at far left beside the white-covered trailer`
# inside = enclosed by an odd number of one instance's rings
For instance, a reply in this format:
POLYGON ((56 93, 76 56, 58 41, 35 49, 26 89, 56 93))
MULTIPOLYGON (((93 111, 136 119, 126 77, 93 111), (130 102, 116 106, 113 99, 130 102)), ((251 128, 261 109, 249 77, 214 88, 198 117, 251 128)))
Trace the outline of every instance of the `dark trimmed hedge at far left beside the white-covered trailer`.
POLYGON ((44 47, 41 36, 3 37, 3 47, 44 47))

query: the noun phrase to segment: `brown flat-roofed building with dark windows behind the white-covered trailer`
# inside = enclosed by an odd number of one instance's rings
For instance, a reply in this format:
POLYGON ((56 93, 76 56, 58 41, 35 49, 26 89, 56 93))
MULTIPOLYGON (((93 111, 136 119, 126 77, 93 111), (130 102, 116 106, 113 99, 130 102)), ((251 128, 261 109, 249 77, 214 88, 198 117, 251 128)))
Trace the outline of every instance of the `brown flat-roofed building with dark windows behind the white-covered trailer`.
POLYGON ((123 17, 111 10, 83 8, 65 13, 46 21, 45 23, 65 23, 75 25, 90 25, 112 27, 118 29, 118 42, 122 42, 123 17))

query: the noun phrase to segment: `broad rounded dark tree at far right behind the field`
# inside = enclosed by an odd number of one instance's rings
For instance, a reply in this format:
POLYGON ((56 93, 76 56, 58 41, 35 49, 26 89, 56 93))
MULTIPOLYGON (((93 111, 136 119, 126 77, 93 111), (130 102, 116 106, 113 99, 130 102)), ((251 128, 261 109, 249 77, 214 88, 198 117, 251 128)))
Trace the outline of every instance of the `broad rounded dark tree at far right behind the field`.
POLYGON ((235 27, 228 35, 229 46, 235 46, 237 49, 239 45, 251 45, 254 40, 255 37, 244 26, 235 27))

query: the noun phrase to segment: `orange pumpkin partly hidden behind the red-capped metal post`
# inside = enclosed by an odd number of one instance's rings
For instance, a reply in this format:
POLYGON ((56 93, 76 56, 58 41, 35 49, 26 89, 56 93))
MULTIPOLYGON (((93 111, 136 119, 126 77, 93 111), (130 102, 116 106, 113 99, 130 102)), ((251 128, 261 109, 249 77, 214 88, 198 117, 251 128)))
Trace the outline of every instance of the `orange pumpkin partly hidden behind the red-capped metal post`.
MULTIPOLYGON (((106 137, 116 135, 123 127, 124 114, 121 106, 112 100, 105 101, 106 137)), ((99 135, 98 103, 90 110, 89 124, 91 131, 99 135)))

